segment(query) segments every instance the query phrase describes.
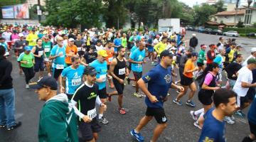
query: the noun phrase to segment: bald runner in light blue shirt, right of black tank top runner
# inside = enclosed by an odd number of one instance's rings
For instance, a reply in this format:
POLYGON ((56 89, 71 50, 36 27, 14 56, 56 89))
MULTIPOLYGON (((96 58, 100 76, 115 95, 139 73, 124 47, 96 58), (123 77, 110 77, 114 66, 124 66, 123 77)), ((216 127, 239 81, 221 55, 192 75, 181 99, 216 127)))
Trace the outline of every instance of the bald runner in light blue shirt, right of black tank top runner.
POLYGON ((146 61, 144 60, 146 56, 145 46, 146 46, 146 43, 140 42, 139 48, 134 50, 129 58, 129 62, 132 62, 132 72, 134 73, 134 80, 136 82, 136 89, 134 92, 134 96, 138 98, 142 97, 142 94, 139 93, 139 85, 137 82, 142 77, 142 70, 143 70, 142 64, 146 63, 146 61))

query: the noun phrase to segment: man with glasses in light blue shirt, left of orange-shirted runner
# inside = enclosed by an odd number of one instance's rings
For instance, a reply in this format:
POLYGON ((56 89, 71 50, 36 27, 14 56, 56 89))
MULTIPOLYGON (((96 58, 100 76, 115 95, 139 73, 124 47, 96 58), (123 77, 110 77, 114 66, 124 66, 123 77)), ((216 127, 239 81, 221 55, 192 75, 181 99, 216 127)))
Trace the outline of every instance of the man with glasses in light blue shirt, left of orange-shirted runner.
POLYGON ((53 60, 53 77, 58 80, 61 72, 65 67, 65 46, 63 45, 63 38, 57 37, 57 45, 50 50, 50 60, 53 60))

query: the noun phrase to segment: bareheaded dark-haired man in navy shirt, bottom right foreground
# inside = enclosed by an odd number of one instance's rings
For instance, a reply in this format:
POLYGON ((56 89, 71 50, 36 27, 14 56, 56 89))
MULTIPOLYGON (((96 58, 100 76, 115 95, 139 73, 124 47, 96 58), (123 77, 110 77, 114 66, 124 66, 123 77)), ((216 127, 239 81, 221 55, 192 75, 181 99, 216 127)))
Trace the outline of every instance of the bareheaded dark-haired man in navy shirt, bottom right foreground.
POLYGON ((217 89, 213 94, 215 108, 204 114, 204 123, 198 142, 212 141, 225 142, 225 116, 231 116, 238 106, 237 94, 229 89, 217 89))

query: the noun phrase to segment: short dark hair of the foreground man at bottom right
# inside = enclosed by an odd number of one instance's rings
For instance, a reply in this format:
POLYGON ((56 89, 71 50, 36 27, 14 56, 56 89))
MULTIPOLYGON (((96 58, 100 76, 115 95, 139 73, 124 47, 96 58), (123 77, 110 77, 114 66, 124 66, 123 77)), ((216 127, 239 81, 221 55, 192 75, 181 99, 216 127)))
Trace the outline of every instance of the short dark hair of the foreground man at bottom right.
POLYGON ((238 94, 230 89, 217 89, 213 94, 214 105, 218 107, 220 104, 228 104, 229 99, 237 95, 238 94))

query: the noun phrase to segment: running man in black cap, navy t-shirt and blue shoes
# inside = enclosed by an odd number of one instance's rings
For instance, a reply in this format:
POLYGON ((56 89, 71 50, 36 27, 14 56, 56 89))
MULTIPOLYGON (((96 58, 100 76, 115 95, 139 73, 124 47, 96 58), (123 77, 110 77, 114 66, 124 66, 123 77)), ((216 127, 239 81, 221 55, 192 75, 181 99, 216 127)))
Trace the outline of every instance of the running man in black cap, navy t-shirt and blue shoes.
POLYGON ((162 131, 167 126, 167 118, 164 112, 163 104, 166 102, 168 97, 166 96, 169 88, 173 87, 176 89, 181 89, 183 87, 177 86, 171 81, 171 63, 173 61, 173 55, 169 50, 163 50, 160 54, 161 62, 156 65, 153 69, 146 73, 141 79, 139 79, 138 84, 142 89, 144 94, 146 94, 145 103, 147 106, 145 116, 139 121, 139 125, 136 129, 130 131, 131 135, 137 139, 137 141, 144 141, 144 137, 139 133, 146 124, 153 119, 156 119, 158 125, 154 129, 153 137, 151 142, 156 142, 162 131), (148 83, 148 88, 146 88, 146 83, 148 83))

